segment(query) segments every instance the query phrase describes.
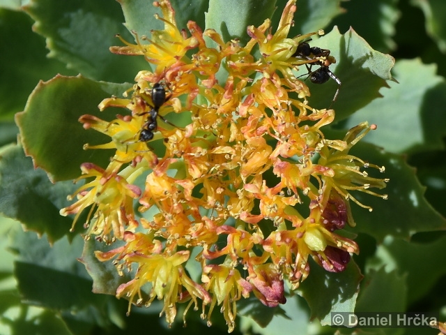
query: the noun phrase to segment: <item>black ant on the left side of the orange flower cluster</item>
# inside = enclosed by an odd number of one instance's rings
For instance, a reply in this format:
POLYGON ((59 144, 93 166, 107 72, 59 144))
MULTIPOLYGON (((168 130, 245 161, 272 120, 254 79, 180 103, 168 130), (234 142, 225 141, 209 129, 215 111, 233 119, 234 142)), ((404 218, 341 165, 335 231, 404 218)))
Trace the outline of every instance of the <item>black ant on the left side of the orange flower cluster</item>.
POLYGON ((157 117, 160 117, 167 124, 171 124, 158 114, 160 107, 169 100, 169 98, 166 97, 166 89, 159 82, 153 85, 151 98, 153 106, 151 107, 150 112, 144 113, 148 114, 148 118, 146 123, 142 126, 141 133, 139 133, 139 140, 141 142, 148 142, 153 139, 153 132, 156 131, 158 126, 157 117))

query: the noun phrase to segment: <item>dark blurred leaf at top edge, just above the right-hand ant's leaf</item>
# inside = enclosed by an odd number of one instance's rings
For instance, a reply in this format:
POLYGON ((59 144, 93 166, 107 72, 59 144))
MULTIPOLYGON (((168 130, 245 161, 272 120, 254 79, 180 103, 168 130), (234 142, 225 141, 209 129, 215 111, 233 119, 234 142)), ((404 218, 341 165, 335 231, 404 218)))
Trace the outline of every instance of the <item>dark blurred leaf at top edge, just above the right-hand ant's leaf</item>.
POLYGON ((401 16, 397 4, 398 0, 343 1, 344 13, 331 25, 340 31, 353 27, 375 50, 389 52, 397 47, 392 39, 401 16))

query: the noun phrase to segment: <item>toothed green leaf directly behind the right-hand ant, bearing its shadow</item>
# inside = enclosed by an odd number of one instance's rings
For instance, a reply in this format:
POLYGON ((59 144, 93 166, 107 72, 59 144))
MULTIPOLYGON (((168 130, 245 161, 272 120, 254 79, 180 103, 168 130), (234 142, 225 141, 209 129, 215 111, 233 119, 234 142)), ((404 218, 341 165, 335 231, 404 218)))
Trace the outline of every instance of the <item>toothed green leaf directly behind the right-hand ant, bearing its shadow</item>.
MULTIPOLYGON (((337 121, 345 119, 380 97, 379 89, 387 87, 386 81, 392 80, 390 70, 394 65, 393 57, 373 50, 353 29, 341 35, 335 27, 329 34, 310 44, 330 50, 337 60, 336 64, 330 66, 330 70, 342 83, 337 101, 332 106, 336 111, 337 121)), ((298 75, 305 73, 305 66, 300 66, 298 75)), ((310 106, 317 109, 330 107, 339 87, 334 80, 330 79, 325 84, 312 84, 306 80, 306 84, 312 92, 309 98, 310 106)))

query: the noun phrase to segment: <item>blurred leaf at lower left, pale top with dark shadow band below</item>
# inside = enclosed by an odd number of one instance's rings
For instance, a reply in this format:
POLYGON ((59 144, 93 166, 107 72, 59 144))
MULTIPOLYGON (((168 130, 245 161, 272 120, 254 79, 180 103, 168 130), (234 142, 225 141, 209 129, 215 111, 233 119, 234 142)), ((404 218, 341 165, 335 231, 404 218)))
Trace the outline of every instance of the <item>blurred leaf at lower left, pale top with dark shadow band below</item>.
MULTIPOLYGON (((77 261, 84 241, 77 236, 57 241, 50 247, 45 239, 31 232, 17 232, 11 248, 17 253, 15 276, 24 301, 68 313, 70 322, 106 327, 112 322, 109 311, 116 299, 91 292, 91 279, 77 261), (76 312, 76 313, 73 313, 76 312)), ((121 304, 121 308, 123 305, 121 304)), ((113 309, 113 308, 112 308, 113 309)))

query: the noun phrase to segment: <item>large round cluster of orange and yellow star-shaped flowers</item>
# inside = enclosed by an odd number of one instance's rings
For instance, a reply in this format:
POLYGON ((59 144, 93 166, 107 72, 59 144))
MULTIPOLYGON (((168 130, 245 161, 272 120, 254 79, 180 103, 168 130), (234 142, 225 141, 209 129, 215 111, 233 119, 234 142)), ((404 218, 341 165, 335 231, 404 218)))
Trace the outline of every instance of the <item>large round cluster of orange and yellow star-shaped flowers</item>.
POLYGON ((144 56, 154 70, 139 72, 124 98, 100 103, 100 110, 122 107, 131 114, 112 122, 81 117, 84 128, 111 138, 86 148, 116 154, 105 169, 82 165, 88 182, 61 214, 77 214, 77 221, 91 206, 86 237, 121 241, 96 252, 99 260, 114 260, 119 274, 129 269, 132 280, 117 288, 117 297, 139 306, 160 299, 169 323, 180 303, 201 304, 209 323, 220 306, 231 332, 242 297, 252 292, 266 306, 283 304, 284 280, 297 288, 309 274, 309 258, 327 271, 343 271, 358 252, 336 230, 354 224, 348 200, 369 208, 351 191, 378 195, 370 188, 385 187, 384 179, 364 171, 376 165, 349 154, 375 126, 360 124, 344 140, 324 137, 334 110, 309 107, 309 89, 294 75, 313 61, 295 57, 299 43, 323 32, 287 37, 295 0, 286 4, 275 34, 270 20, 247 27, 245 46, 194 22, 188 35, 176 27, 169 1, 155 6, 164 30, 111 48, 144 56), (222 73, 225 82, 217 80, 222 73), (167 120, 171 115, 176 121, 167 120), (140 176, 143 187, 136 186, 140 176), (191 259, 193 249, 199 253, 191 259), (190 261, 200 265, 201 278, 189 275, 190 261))

